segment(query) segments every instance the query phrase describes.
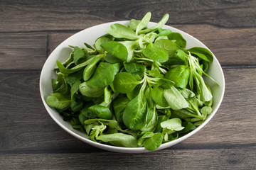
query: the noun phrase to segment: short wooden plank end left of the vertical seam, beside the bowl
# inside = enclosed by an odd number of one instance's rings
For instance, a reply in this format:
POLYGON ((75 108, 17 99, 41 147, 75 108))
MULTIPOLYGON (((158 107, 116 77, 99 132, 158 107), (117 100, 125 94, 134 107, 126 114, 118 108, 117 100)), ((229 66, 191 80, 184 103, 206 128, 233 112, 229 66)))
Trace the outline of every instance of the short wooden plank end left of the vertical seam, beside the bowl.
POLYGON ((0 68, 41 69, 46 50, 46 33, 0 33, 0 68))

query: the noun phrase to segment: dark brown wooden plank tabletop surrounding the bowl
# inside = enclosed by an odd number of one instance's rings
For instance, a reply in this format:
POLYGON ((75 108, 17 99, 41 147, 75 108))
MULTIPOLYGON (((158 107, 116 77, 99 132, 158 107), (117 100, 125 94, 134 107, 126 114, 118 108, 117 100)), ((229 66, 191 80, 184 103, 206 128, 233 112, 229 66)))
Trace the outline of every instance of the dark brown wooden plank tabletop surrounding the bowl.
MULTIPOLYGON (((86 40, 85 40, 86 42, 86 40)), ((0 169, 256 169, 256 1, 0 0, 0 169), (225 74, 212 120, 178 145, 146 154, 97 149, 60 128, 39 77, 55 47, 110 21, 158 22, 201 40, 225 74)))

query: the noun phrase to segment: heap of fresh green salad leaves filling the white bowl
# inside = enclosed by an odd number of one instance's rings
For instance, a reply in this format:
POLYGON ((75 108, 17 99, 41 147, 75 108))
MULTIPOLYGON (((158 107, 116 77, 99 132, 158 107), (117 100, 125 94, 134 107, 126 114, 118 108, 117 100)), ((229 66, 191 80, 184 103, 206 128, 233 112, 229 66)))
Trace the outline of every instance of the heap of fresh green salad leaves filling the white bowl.
POLYGON ((149 12, 128 26, 114 23, 93 46, 70 46, 68 60, 57 61, 46 102, 95 142, 152 151, 191 132, 213 111, 202 77, 211 52, 185 50, 180 33, 162 29, 168 14, 147 28, 150 18, 149 12))

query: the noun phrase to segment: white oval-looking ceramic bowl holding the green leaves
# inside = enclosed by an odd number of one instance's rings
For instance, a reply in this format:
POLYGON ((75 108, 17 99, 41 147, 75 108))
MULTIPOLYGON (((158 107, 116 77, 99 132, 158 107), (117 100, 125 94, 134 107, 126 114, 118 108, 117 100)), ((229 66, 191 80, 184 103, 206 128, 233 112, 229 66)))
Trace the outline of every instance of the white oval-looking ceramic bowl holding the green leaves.
MULTIPOLYGON (((98 147, 101 149, 106 149, 108 151, 112 152, 124 152, 124 153, 142 153, 142 152, 149 152, 144 147, 136 147, 136 148, 127 148, 127 147, 114 147, 110 145, 104 145, 97 142, 93 142, 92 140, 88 139, 88 136, 85 133, 82 133, 78 130, 75 130, 71 127, 70 123, 65 122, 63 120, 63 117, 55 111, 54 108, 50 108, 46 104, 46 97, 53 92, 52 85, 51 85, 51 79, 56 78, 55 72, 53 71, 53 68, 56 65, 56 60, 59 60, 60 62, 65 61, 65 59, 68 58, 70 55, 70 52, 72 52, 72 49, 68 47, 68 45, 73 46, 83 46, 84 42, 86 42, 89 45, 93 45, 95 40, 99 38, 101 35, 105 34, 105 30, 108 26, 110 26, 113 23, 120 23, 125 26, 129 23, 129 21, 117 21, 112 23, 103 23, 98 26, 93 26, 91 28, 87 28, 85 30, 80 31, 79 33, 76 33, 75 35, 72 35, 67 40, 63 41, 58 47, 53 50, 53 52, 50 54, 48 59, 46 60, 46 63, 43 65, 43 69, 41 71, 41 77, 40 77, 40 92, 41 92, 41 98, 43 100, 43 104, 46 107, 46 110, 50 114, 51 118, 60 125, 61 128, 63 128, 65 131, 69 132, 74 137, 77 137, 78 139, 86 142, 87 144, 90 144, 94 147, 98 147)), ((154 26, 156 23, 150 22, 148 24, 148 27, 154 26)), ((164 26, 164 29, 170 29, 172 32, 181 33, 183 35, 183 38, 186 39, 187 45, 186 48, 191 47, 206 47, 206 45, 203 45, 202 42, 197 40, 196 38, 193 38, 193 36, 188 35, 187 33, 184 33, 181 30, 178 30, 176 28, 170 27, 170 26, 164 26)), ((207 47, 206 47, 207 48, 207 47)), ((184 135, 183 137, 178 138, 177 140, 167 142, 162 144, 158 149, 164 149, 166 147, 171 147, 172 145, 177 144, 178 142, 181 142, 185 140, 188 137, 191 137, 191 135, 198 132, 198 130, 201 130, 203 126, 205 126, 211 118, 213 118, 213 115, 215 115, 216 111, 220 107, 220 103, 223 100, 224 90, 225 90, 225 80, 223 75, 223 70, 220 67, 220 63, 216 59, 216 57, 213 55, 213 62, 209 64, 208 72, 210 77, 215 79, 215 81, 218 82, 219 86, 217 86, 213 81, 210 81, 210 79, 206 78, 206 81, 208 82, 212 92, 213 92, 213 113, 208 116, 208 118, 204 121, 202 125, 200 125, 196 130, 193 130, 192 132, 188 133, 187 135, 184 135)))

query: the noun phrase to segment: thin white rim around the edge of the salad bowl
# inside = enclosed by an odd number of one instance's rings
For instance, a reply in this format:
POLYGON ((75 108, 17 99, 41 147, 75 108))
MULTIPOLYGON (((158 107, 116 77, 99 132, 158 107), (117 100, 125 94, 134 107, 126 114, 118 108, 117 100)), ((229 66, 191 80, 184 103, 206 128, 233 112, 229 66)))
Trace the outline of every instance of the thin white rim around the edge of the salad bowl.
MULTIPOLYGON (((102 143, 98 143, 98 142, 94 142, 90 139, 87 139, 86 137, 82 137, 81 135, 78 135, 78 133, 74 132, 76 130, 70 130, 69 128, 65 127, 65 125, 63 125, 62 123, 60 123, 60 121, 57 120, 57 118, 55 118, 54 113, 52 113, 52 111, 50 111, 50 107, 47 105, 46 103, 46 99, 43 96, 43 84, 42 84, 42 77, 43 77, 43 73, 46 70, 46 65, 48 64, 48 61, 50 60, 50 57, 52 57, 52 55, 55 53, 55 51, 61 46, 63 45, 65 42, 68 42, 71 38, 73 38, 74 36, 77 36, 79 34, 81 34, 83 31, 86 31, 88 29, 93 29, 93 28, 97 28, 97 27, 106 27, 110 26, 113 23, 120 23, 123 25, 127 25, 127 23, 129 23, 129 21, 113 21, 113 22, 108 22, 108 23, 102 23, 96 26, 92 26, 89 28, 85 28, 84 30, 80 30, 78 33, 75 33, 73 35, 70 35, 70 37, 66 38, 63 42, 60 42, 60 44, 55 47, 55 49, 53 50, 53 52, 50 53, 50 55, 48 56, 48 58, 46 59, 46 62, 43 64, 43 68, 41 69, 41 75, 40 75, 40 80, 39 80, 39 89, 40 89, 40 94, 41 94, 41 99, 43 101, 43 105, 46 108, 46 111, 48 112, 48 114, 50 115, 51 118, 53 118, 53 120, 55 121, 55 123, 57 123, 61 128, 63 128, 63 130, 65 130, 66 132, 68 132, 70 135, 73 135, 74 137, 78 138, 79 140, 82 140, 83 142, 86 142, 89 145, 92 145, 94 147, 100 148, 100 149, 105 149, 111 152, 123 152, 123 153, 143 153, 143 152, 152 152, 149 150, 146 150, 144 147, 116 147, 116 146, 112 146, 112 145, 105 145, 102 143)), ((155 22, 149 22, 149 25, 154 25, 156 24, 155 22)), ((107 27, 106 27, 107 28, 107 27)), ((192 35, 189 35, 188 33, 184 32, 183 30, 179 30, 177 28, 174 28, 172 26, 167 26, 164 25, 162 28, 164 29, 171 29, 173 32, 178 32, 181 33, 182 35, 186 35, 188 37, 191 37, 195 40, 197 40, 198 42, 201 43, 201 45, 203 47, 206 47, 206 45, 203 44, 203 42, 201 42, 200 40, 198 40, 197 38, 194 38, 192 35)), ((208 47, 206 47, 208 49, 208 47)), ((210 50, 210 49, 208 49, 210 50)), ((211 51, 210 51, 211 52, 211 51)), ((213 54, 213 52, 212 52, 213 54)), ((206 120, 203 121, 203 123, 201 125, 199 125, 195 130, 192 130, 191 132, 189 132, 188 134, 182 136, 182 137, 178 137, 178 139, 170 141, 170 142, 166 142, 160 145, 160 147, 158 149, 156 149, 155 151, 158 151, 160 149, 165 149, 166 147, 171 147, 172 145, 176 145, 178 142, 181 142, 183 140, 186 140, 188 137, 191 137, 192 135, 194 135, 196 132, 198 132, 199 130, 201 130, 209 121, 211 118, 213 118, 213 116, 215 115, 215 113, 218 111, 218 108, 220 107, 220 104, 223 101, 223 96, 224 96, 224 92, 225 92, 225 78, 224 78, 224 74, 223 74, 223 69, 220 66, 220 63, 218 62, 217 57, 215 57, 215 55, 213 54, 213 60, 215 60, 217 66, 220 69, 220 74, 221 74, 221 79, 223 81, 223 89, 221 91, 221 96, 220 96, 220 100, 218 101, 218 104, 215 106, 215 109, 213 110, 213 113, 211 113, 210 115, 208 115, 208 118, 206 118, 206 120)), ((57 112, 58 113, 58 112, 57 112)), ((61 115, 60 115, 61 116, 61 115)), ((86 135, 86 134, 85 134, 86 135)))

